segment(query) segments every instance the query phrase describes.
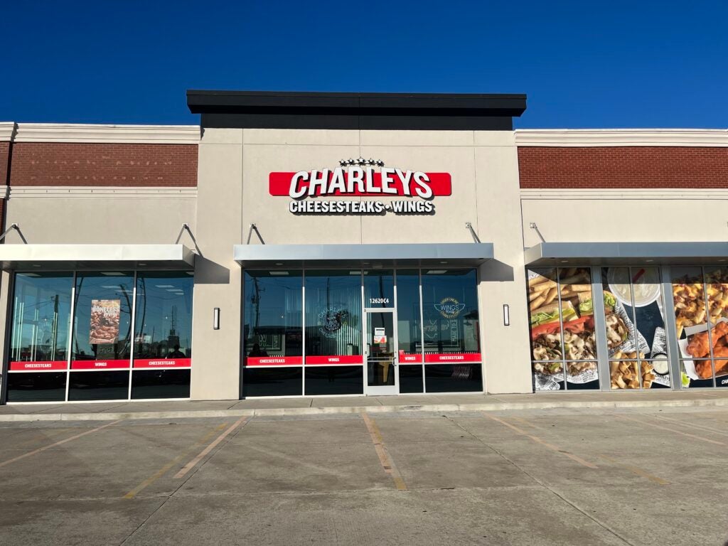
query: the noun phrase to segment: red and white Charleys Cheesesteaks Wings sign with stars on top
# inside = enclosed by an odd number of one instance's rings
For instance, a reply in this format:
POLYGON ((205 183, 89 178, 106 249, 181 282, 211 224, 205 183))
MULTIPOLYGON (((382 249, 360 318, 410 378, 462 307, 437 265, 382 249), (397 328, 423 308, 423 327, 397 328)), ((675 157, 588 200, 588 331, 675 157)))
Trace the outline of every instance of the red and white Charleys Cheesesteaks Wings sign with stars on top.
POLYGON ((290 197, 294 214, 434 214, 436 196, 451 194, 450 173, 384 167, 374 159, 344 159, 339 167, 270 173, 271 195, 290 197), (319 199, 320 197, 404 197, 405 199, 319 199))

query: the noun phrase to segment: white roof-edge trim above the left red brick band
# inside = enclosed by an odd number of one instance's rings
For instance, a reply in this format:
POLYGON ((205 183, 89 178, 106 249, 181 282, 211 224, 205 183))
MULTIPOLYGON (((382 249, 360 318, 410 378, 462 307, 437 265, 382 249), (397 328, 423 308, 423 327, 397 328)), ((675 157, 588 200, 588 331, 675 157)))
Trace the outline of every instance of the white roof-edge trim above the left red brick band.
POLYGON ((15 142, 197 144, 198 125, 19 123, 15 142))

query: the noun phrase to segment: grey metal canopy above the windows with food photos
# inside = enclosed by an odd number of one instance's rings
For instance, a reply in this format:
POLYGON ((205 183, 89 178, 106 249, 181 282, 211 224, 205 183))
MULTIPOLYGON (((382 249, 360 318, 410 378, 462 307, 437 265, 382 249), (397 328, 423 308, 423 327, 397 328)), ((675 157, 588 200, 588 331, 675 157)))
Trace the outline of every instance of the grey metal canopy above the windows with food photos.
POLYGON ((541 242, 526 266, 728 263, 728 242, 541 242))

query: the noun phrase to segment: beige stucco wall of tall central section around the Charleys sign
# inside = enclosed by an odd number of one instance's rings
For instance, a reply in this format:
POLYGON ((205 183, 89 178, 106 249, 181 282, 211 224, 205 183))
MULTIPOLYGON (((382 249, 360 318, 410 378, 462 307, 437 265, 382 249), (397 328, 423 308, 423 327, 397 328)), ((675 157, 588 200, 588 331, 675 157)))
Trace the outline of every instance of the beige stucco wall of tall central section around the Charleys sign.
MULTIPOLYGON (((489 392, 531 392, 523 235, 513 132, 205 129, 199 146, 192 397, 234 398, 240 386, 241 271, 232 247, 255 223, 266 244, 471 242, 465 223, 494 242, 497 262, 480 268, 481 339, 489 392), (447 172, 452 195, 435 215, 294 215, 269 194, 273 171, 336 167, 340 159, 447 172), (511 325, 502 324, 509 304, 511 325), (221 329, 212 315, 221 307, 221 329)), ((336 199, 328 197, 326 199, 336 199)), ((342 198, 342 199, 373 199, 342 198)), ((376 198, 387 201, 386 197, 376 198)), ((402 199, 397 197, 396 199, 402 199)), ((261 244, 255 233, 250 244, 261 244)))

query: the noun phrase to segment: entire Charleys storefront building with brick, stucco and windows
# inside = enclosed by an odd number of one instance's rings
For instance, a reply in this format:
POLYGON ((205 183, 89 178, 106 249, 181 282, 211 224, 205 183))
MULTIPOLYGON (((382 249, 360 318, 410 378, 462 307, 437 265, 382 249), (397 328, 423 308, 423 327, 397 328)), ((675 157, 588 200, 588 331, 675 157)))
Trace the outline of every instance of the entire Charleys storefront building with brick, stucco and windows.
POLYGON ((0 124, 4 403, 728 384, 728 133, 524 95, 0 124))

